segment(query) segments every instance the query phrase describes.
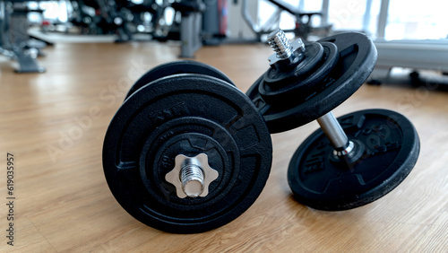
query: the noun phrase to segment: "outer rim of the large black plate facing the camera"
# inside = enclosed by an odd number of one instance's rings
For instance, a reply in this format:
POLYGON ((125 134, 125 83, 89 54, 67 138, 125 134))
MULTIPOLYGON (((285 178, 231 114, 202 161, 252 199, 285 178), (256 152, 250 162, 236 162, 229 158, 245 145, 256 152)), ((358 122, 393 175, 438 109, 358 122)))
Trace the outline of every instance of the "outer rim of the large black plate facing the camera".
MULTIPOLYGON (((146 90, 163 90, 163 94, 166 94, 167 92, 179 92, 183 91, 183 87, 174 87, 174 85, 167 85, 166 81, 171 78, 177 78, 182 79, 183 82, 187 82, 189 79, 202 79, 209 83, 212 83, 211 85, 216 85, 213 87, 213 90, 217 90, 216 94, 223 96, 219 91, 222 89, 226 89, 226 91, 232 92, 232 100, 240 100, 241 103, 243 101, 246 101, 246 105, 248 108, 250 108, 256 117, 259 117, 259 122, 257 123, 261 130, 263 130, 263 133, 260 135, 265 135, 262 139, 262 142, 265 142, 263 144, 263 148, 269 147, 270 150, 272 150, 272 143, 271 143, 271 135, 269 133, 269 129, 264 124, 263 117, 259 114, 259 112, 254 108, 254 104, 251 100, 246 96, 245 93, 239 91, 237 87, 228 85, 225 81, 222 81, 218 78, 211 77, 208 75, 202 75, 202 74, 175 74, 170 75, 167 77, 160 78, 154 82, 151 83, 151 85, 145 85, 141 89, 146 90), (235 96, 238 96, 237 99, 235 99, 235 96)), ((186 85, 186 84, 185 84, 186 85)), ((202 88, 202 91, 209 92, 211 90, 210 86, 208 88, 202 88)), ((184 86, 185 90, 185 86, 184 86)), ((135 93, 133 96, 131 96, 128 100, 125 100, 122 107, 128 108, 128 107, 134 107, 134 108, 141 108, 142 105, 147 103, 149 100, 157 99, 157 95, 154 92, 145 92, 141 93, 142 95, 139 95, 138 93, 135 93), (147 96, 143 96, 143 94, 148 94, 147 96), (141 97, 144 97, 145 100, 140 100, 141 97)), ((162 95, 163 95, 162 94, 162 95)), ((160 94, 159 94, 160 95, 160 94)), ((121 109, 120 108, 120 109, 121 109)), ((103 143, 103 155, 102 155, 102 164, 103 164, 103 171, 106 178, 106 181, 108 183, 108 188, 111 191, 112 195, 116 198, 116 201, 119 205, 121 205, 125 211, 132 215, 136 220, 143 222, 153 228, 159 229, 161 231, 168 231, 173 233, 197 233, 197 232, 203 232, 203 231, 210 231, 212 229, 216 229, 228 222, 232 222, 233 220, 237 219, 238 216, 246 212, 246 210, 254 204, 254 201, 260 196, 260 194, 263 191, 263 188, 266 184, 267 179, 269 178, 269 174, 271 171, 271 162, 272 162, 272 156, 264 156, 262 159, 263 161, 260 161, 263 163, 263 166, 260 166, 257 168, 257 177, 256 180, 254 179, 254 185, 253 188, 247 189, 246 196, 244 196, 244 201, 238 202, 238 208, 235 208, 232 206, 233 210, 236 210, 235 212, 227 212, 223 215, 220 215, 218 218, 214 218, 207 222, 202 223, 173 223, 173 222, 163 222, 158 217, 151 217, 143 219, 142 215, 133 210, 133 208, 128 208, 123 203, 123 197, 120 197, 117 195, 118 189, 116 189, 116 186, 113 184, 113 176, 109 175, 107 170, 114 170, 113 168, 109 168, 110 165, 113 165, 116 163, 116 161, 111 161, 111 157, 115 156, 115 153, 112 153, 112 150, 116 147, 114 144, 117 143, 117 140, 120 138, 120 136, 114 136, 114 133, 118 131, 119 129, 124 129, 124 127, 128 124, 128 120, 123 118, 124 115, 126 115, 124 112, 120 112, 120 109, 116 112, 116 115, 111 120, 110 125, 108 126, 108 131, 106 133, 104 143, 103 143), (121 120, 121 122, 117 122, 121 120), (263 169, 263 170, 262 170, 263 169), (250 196, 247 198, 247 196, 250 196), (150 221, 151 220, 151 221, 150 221)), ((137 113, 137 109, 134 110, 134 113, 137 113)), ((133 118, 133 114, 129 114, 127 118, 133 118)), ((110 172, 112 173, 112 172, 110 172)), ((226 208, 229 208, 228 206, 226 208)))

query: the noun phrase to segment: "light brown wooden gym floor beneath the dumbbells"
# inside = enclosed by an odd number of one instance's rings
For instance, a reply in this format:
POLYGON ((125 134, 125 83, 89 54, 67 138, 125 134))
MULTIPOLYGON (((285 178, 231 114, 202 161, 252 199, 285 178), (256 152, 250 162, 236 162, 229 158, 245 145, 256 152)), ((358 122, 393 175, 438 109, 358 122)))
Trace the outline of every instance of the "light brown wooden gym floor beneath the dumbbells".
MULTIPOLYGON (((176 60, 177 45, 57 44, 39 59, 45 74, 14 74, 0 59, 0 252, 447 252, 448 92, 364 85, 334 109, 393 109, 416 126, 414 170, 389 195, 345 212, 298 204, 287 183, 297 146, 317 124, 272 135, 271 176, 235 221, 202 234, 157 231, 125 212, 108 189, 101 148, 110 119, 140 75, 176 60), (90 118, 89 124, 80 124, 90 118), (79 129, 82 129, 81 131, 79 129), (14 246, 7 245, 6 156, 14 157, 14 246)), ((246 92, 267 69, 265 45, 202 48, 246 92)))

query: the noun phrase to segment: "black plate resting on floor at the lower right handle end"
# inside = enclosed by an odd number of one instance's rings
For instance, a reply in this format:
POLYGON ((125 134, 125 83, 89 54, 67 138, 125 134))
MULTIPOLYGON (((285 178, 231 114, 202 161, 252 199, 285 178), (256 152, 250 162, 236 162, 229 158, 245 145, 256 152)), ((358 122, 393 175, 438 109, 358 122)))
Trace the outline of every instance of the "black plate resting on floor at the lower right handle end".
POLYGON ((301 144, 289 163, 288 181, 297 200, 310 207, 339 211, 366 205, 404 180, 418 159, 415 127, 401 114, 368 109, 338 118, 365 152, 354 164, 338 162, 321 129, 301 144))

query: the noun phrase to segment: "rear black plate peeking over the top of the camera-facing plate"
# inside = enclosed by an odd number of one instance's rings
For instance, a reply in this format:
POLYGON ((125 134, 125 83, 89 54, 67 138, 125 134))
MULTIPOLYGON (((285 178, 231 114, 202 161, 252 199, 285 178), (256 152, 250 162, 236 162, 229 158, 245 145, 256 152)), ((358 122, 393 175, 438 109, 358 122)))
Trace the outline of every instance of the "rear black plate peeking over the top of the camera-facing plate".
POLYGON ((129 96, 131 96, 134 92, 142 88, 142 86, 172 74, 205 74, 235 85, 232 81, 230 81, 230 79, 228 79, 226 74, 223 74, 220 70, 211 65, 206 65, 201 62, 181 60, 158 65, 146 74, 143 74, 142 77, 134 83, 129 92, 127 92, 125 100, 127 100, 127 98, 129 98, 129 96))

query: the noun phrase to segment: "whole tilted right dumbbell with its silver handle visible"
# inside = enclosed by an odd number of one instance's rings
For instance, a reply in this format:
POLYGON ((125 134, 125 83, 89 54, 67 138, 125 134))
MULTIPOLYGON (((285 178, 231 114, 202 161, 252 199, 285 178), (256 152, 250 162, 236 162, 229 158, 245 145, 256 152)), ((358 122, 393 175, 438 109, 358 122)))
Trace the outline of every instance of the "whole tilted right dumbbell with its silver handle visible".
POLYGON ((339 211, 371 203, 396 188, 418 160, 418 134, 409 119, 385 109, 338 119, 331 112, 373 71, 373 42, 350 32, 290 43, 280 30, 268 41, 276 51, 269 57, 271 66, 246 94, 271 133, 314 119, 321 126, 289 163, 289 186, 297 200, 339 211))

